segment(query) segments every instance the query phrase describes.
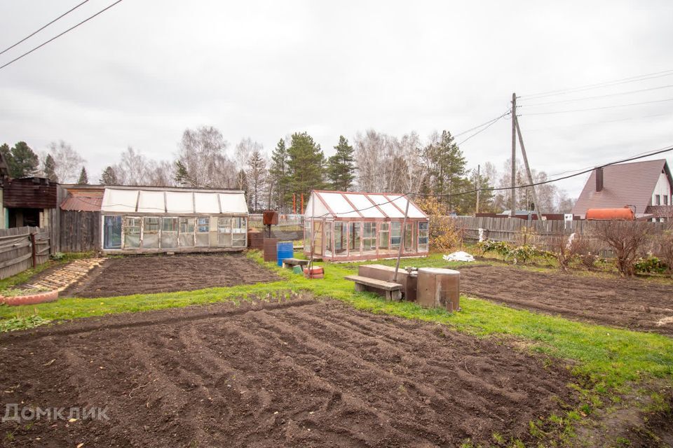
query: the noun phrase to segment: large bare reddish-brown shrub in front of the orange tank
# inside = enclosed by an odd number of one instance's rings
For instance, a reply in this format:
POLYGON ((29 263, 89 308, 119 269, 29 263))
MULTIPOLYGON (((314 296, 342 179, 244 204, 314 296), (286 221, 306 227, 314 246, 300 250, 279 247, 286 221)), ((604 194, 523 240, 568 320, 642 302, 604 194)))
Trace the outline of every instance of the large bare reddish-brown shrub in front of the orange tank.
POLYGON ((594 236, 615 251, 617 270, 622 276, 635 273, 634 262, 652 233, 647 221, 599 221, 594 236))

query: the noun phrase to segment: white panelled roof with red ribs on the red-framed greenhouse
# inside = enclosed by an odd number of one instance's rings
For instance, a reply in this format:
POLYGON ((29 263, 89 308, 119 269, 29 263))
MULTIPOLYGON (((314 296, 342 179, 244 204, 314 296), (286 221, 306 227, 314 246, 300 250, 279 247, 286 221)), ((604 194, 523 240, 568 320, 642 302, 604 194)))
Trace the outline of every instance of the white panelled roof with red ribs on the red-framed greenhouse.
MULTIPOLYGON (((314 190, 306 203, 306 218, 404 218, 407 197, 399 193, 314 190)), ((409 218, 427 218, 409 202, 409 218)))

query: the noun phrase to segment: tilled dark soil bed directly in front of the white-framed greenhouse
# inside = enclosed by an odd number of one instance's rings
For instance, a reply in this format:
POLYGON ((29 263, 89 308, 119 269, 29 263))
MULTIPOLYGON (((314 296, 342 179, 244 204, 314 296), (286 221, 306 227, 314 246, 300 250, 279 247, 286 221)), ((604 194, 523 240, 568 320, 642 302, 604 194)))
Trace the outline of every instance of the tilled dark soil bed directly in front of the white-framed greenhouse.
POLYGON ((278 279, 270 270, 239 254, 128 256, 106 260, 62 296, 171 293, 278 279))

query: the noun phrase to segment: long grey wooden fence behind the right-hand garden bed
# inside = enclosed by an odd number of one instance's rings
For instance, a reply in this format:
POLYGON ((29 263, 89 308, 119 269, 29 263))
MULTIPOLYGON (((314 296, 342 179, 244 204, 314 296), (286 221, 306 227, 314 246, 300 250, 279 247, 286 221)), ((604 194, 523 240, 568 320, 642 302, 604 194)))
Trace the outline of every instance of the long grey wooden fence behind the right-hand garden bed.
MULTIPOLYGON (((479 241, 480 229, 484 239, 508 241, 517 244, 548 246, 559 235, 592 237, 600 221, 527 221, 517 218, 490 218, 485 216, 456 216, 452 218, 463 241, 479 241)), ((663 231, 666 223, 650 223, 655 232, 663 231)))

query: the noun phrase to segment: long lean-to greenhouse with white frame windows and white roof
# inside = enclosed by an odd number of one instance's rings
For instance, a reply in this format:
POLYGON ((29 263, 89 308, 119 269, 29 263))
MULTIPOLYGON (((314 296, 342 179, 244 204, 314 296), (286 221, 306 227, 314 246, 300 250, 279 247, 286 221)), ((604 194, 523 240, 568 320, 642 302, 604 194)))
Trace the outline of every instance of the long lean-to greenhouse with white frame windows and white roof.
POLYGON ((104 253, 240 251, 247 245, 243 191, 106 186, 100 214, 104 253))

